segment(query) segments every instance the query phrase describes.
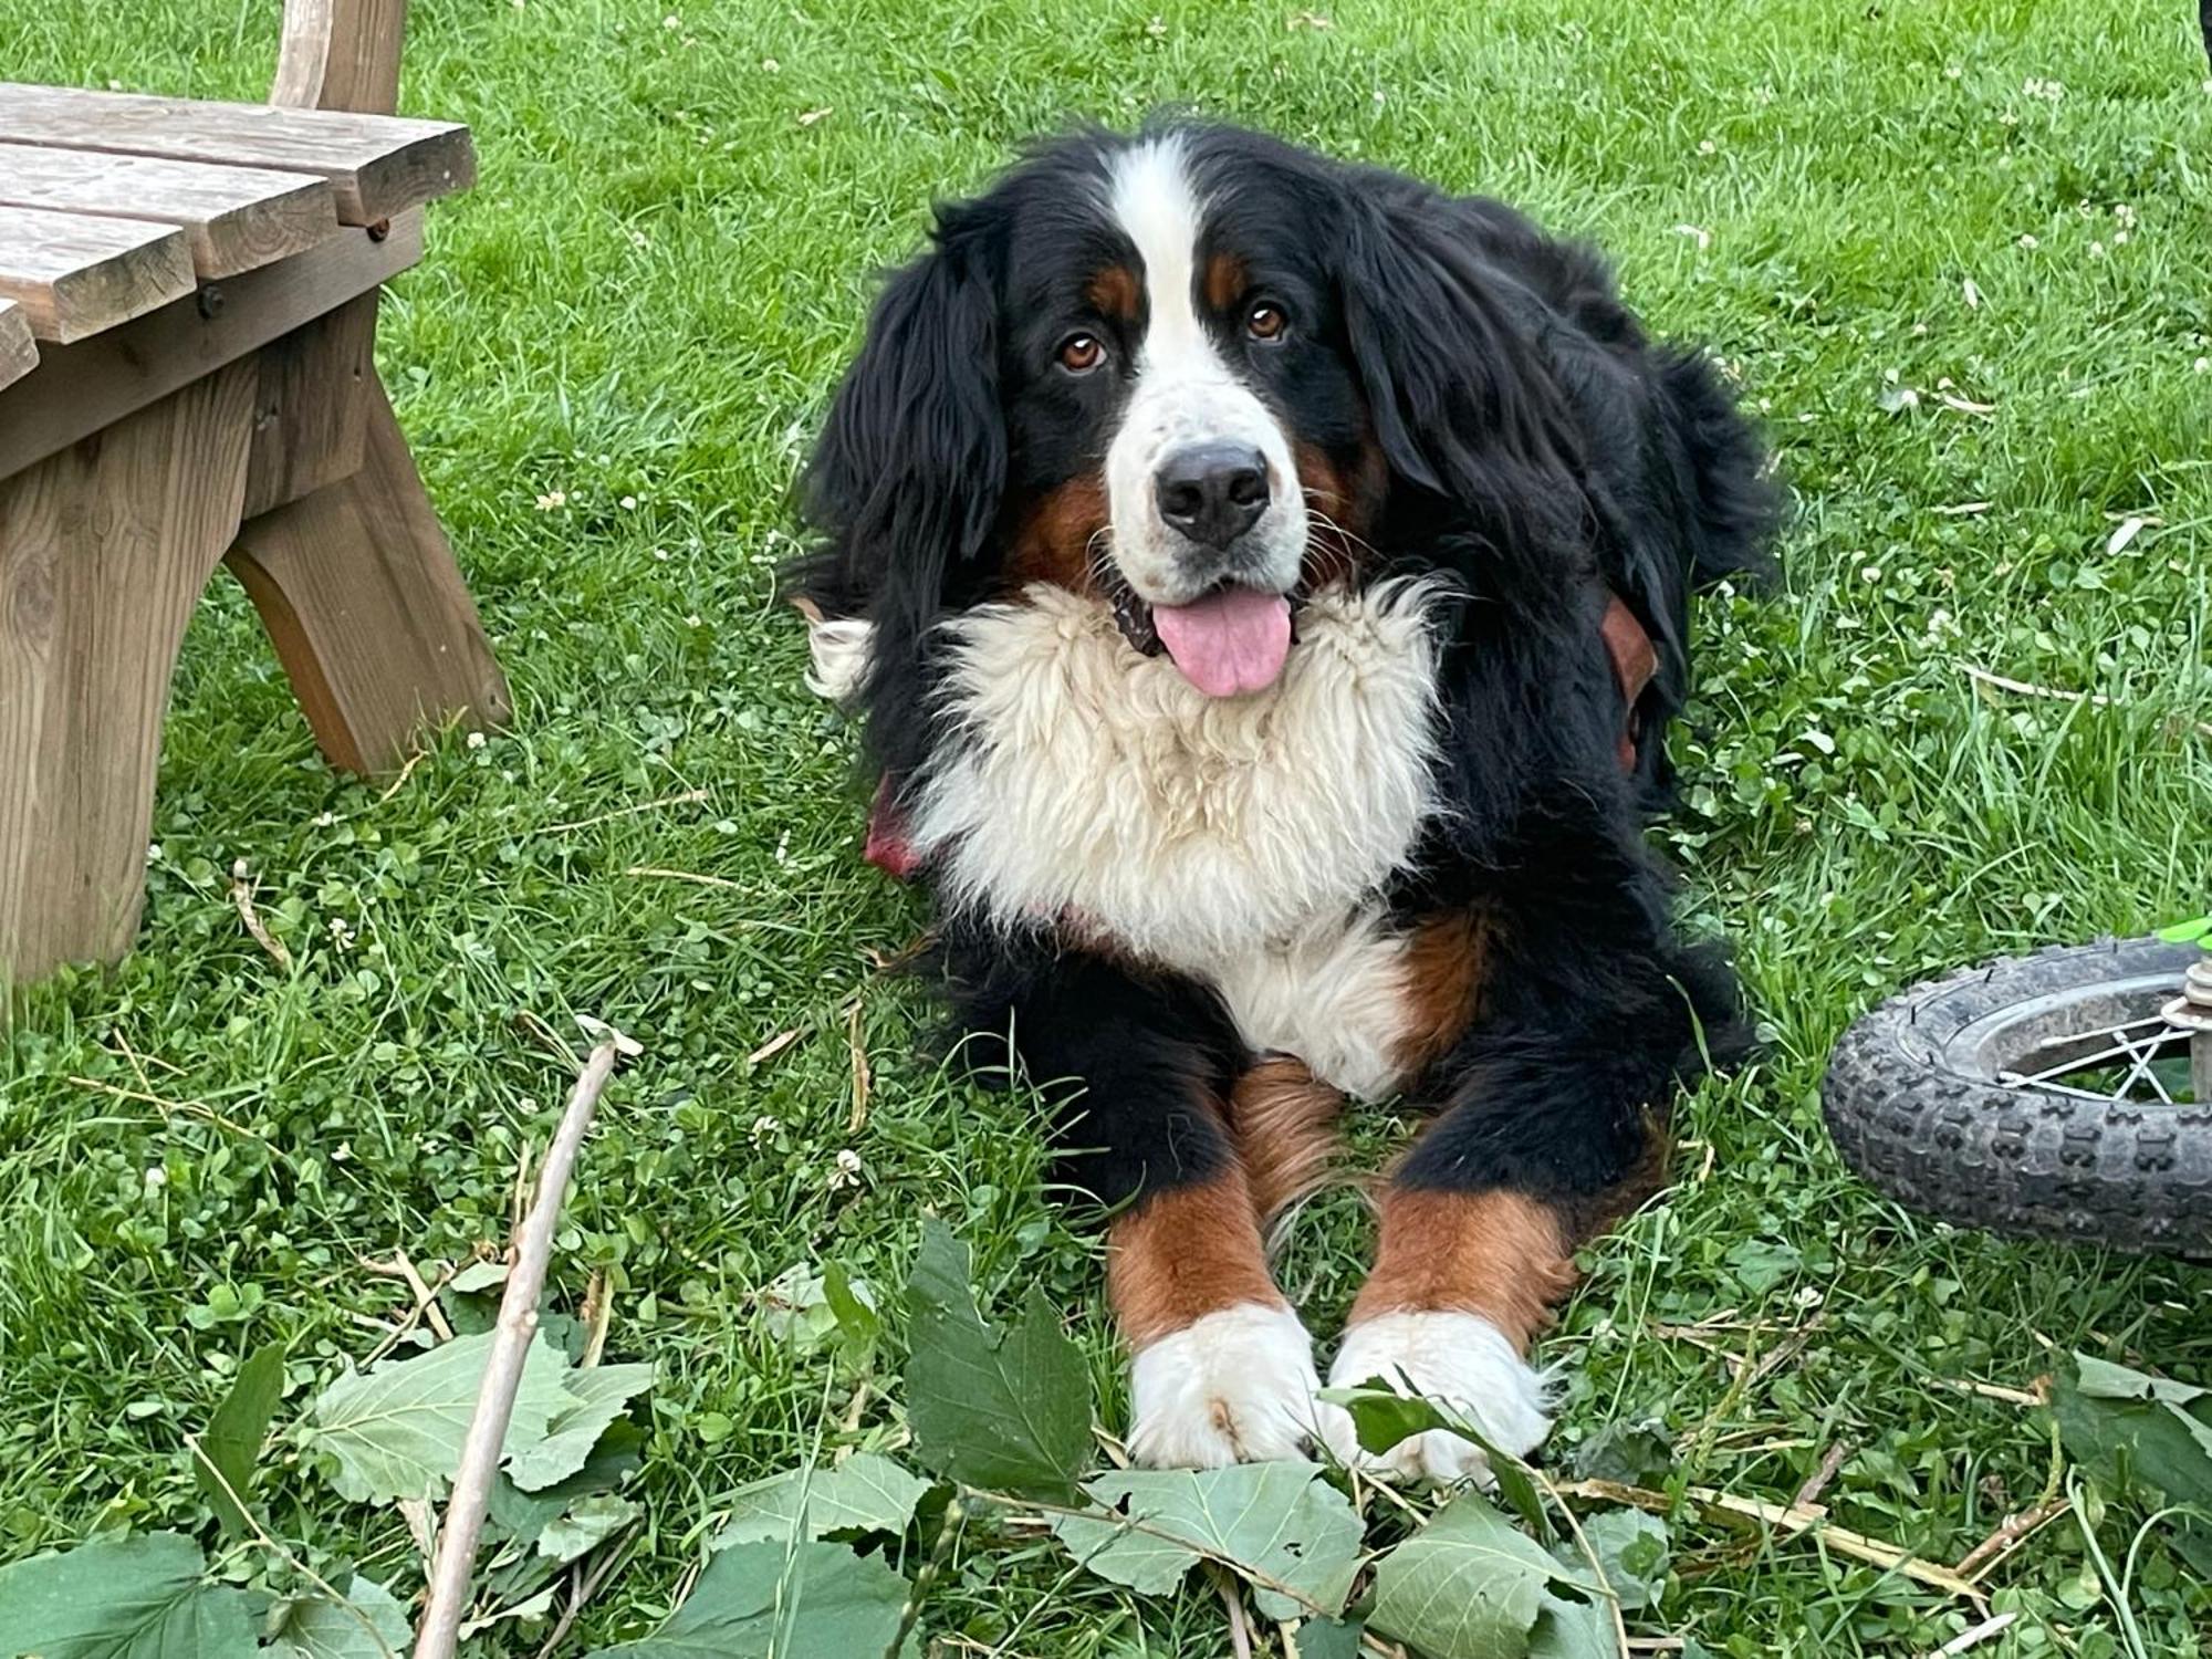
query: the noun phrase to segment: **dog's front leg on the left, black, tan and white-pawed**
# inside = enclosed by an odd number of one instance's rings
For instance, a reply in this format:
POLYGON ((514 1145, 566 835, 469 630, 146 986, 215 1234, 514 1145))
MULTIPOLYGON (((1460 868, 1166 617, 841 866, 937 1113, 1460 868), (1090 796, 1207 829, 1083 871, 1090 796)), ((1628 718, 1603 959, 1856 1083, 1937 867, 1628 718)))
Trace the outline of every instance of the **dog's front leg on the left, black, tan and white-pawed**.
POLYGON ((1060 1102, 1062 1177, 1097 1194, 1106 1292, 1128 1340, 1137 1462, 1296 1458, 1318 1438, 1314 1345, 1267 1272, 1252 1179, 1225 1124, 1243 1044, 1188 980, 1088 953, 956 962, 978 1033, 1013 1033, 1060 1102))

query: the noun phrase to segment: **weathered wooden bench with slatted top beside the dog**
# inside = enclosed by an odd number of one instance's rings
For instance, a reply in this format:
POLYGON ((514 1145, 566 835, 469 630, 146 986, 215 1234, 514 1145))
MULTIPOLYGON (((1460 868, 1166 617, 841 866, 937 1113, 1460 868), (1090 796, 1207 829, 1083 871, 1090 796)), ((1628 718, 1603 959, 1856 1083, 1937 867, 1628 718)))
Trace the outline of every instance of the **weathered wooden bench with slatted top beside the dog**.
POLYGON ((376 378, 469 131, 396 119, 405 0, 288 0, 270 104, 0 84, 0 987, 137 931, 217 562, 334 765, 507 684, 376 378))

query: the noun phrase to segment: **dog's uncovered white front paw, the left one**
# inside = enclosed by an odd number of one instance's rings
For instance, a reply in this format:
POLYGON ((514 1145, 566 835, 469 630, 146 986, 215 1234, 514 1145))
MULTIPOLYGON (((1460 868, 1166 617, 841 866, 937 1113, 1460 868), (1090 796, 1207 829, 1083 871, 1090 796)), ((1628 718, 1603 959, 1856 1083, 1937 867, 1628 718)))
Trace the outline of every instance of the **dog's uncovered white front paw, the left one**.
POLYGON ((1128 1371, 1128 1453, 1152 1469, 1305 1458, 1334 1431, 1314 1391, 1314 1338, 1287 1307, 1239 1303, 1161 1336, 1128 1371))

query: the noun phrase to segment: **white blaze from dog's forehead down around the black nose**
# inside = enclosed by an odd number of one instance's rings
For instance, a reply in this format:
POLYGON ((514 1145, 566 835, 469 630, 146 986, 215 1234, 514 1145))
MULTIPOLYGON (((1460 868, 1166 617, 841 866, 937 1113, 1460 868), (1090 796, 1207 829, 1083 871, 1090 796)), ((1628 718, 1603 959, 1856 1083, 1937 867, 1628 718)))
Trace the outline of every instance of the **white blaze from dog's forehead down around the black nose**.
POLYGON ((1106 210, 1144 265, 1146 321, 1130 365, 1135 385, 1106 449, 1115 562, 1155 604, 1188 604, 1212 586, 1192 568, 1181 533, 1159 518, 1152 478, 1177 449, 1232 442, 1267 465, 1267 511, 1248 531, 1241 580, 1285 593, 1305 560, 1305 500, 1283 422, 1230 367, 1199 314, 1199 241, 1206 197, 1181 133, 1144 139, 1108 164, 1106 210))

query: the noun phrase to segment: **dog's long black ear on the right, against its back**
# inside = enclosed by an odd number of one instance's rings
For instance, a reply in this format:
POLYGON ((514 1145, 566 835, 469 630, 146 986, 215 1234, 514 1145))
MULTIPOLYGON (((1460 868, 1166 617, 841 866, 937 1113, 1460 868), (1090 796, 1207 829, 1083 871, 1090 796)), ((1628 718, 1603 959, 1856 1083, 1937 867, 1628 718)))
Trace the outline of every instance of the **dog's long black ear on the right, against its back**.
POLYGON ((1400 484, 1500 533, 1573 535, 1584 467, 1557 389, 1513 325, 1460 204, 1354 175, 1336 239, 1347 345, 1400 484), (1533 522, 1531 522, 1533 520, 1533 522))

